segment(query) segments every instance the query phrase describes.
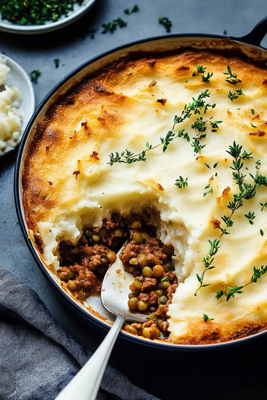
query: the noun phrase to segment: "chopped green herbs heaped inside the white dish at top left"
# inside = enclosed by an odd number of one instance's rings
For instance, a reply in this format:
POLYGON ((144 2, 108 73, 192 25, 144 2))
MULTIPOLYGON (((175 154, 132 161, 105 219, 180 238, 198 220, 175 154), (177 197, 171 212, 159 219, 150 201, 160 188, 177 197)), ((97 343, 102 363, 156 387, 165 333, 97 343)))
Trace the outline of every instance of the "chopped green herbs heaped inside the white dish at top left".
POLYGON ((57 21, 62 15, 73 11, 73 5, 83 0, 0 0, 2 19, 20 25, 42 25, 46 21, 57 21))

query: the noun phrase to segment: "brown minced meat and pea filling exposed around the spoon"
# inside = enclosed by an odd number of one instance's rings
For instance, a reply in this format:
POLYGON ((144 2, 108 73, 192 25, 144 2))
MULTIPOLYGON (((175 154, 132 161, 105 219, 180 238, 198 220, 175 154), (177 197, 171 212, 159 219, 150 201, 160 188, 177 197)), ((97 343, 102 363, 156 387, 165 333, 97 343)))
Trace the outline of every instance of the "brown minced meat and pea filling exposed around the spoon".
POLYGON ((86 228, 74 246, 59 244, 58 276, 67 282, 74 297, 84 300, 99 294, 108 266, 116 261, 116 252, 124 244, 120 260, 135 276, 130 285, 128 307, 149 314, 143 324, 126 324, 124 329, 146 338, 168 336, 166 313, 178 281, 172 263, 173 246, 163 245, 147 213, 123 218, 112 215, 101 228, 86 228))

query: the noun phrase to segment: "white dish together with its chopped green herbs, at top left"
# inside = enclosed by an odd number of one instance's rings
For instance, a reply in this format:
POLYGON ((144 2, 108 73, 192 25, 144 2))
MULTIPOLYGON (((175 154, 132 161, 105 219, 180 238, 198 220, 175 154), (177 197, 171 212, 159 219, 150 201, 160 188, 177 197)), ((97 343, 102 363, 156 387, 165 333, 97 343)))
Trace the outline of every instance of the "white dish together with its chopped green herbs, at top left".
POLYGON ((0 30, 51 32, 80 18, 96 0, 0 0, 0 30))

